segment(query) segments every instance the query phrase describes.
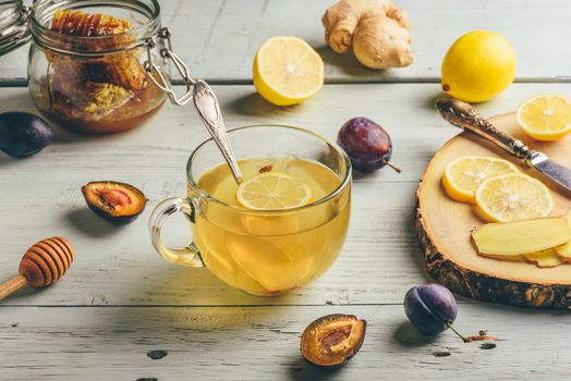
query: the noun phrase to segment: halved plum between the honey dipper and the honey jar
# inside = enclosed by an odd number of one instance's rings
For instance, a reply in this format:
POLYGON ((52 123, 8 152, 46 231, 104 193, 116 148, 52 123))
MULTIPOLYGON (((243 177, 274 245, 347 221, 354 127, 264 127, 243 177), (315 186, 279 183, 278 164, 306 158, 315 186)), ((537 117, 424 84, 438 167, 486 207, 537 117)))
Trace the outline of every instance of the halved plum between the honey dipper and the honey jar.
POLYGON ((117 224, 134 221, 147 204, 143 192, 125 183, 90 182, 82 186, 82 193, 89 209, 117 224))

